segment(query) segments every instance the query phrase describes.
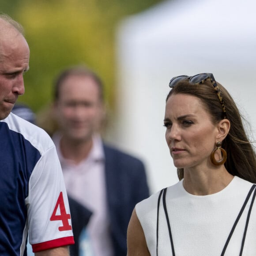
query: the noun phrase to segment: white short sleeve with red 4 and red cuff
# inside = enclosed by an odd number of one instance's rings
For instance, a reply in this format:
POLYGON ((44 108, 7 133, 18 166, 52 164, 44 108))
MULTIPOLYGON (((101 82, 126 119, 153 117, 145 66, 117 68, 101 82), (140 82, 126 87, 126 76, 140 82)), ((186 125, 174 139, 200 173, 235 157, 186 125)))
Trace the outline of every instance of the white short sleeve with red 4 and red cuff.
POLYGON ((26 199, 29 242, 33 251, 73 244, 68 197, 55 147, 37 162, 26 199))

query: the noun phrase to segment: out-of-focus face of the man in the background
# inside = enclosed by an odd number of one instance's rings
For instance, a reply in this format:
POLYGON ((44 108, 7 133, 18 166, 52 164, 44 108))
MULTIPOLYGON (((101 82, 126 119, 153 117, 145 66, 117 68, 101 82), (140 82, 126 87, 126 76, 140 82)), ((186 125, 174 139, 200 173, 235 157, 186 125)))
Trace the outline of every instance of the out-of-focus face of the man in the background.
POLYGON ((95 81, 85 75, 71 75, 60 85, 55 114, 63 136, 88 141, 102 120, 102 102, 95 81))

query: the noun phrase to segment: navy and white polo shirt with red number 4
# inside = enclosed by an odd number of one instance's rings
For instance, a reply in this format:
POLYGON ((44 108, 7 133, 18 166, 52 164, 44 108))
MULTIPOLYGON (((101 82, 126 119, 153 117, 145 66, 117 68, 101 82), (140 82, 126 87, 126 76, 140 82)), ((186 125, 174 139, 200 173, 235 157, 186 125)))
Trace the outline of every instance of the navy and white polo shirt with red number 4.
POLYGON ((0 121, 0 255, 74 243, 68 198, 49 135, 13 113, 0 121))

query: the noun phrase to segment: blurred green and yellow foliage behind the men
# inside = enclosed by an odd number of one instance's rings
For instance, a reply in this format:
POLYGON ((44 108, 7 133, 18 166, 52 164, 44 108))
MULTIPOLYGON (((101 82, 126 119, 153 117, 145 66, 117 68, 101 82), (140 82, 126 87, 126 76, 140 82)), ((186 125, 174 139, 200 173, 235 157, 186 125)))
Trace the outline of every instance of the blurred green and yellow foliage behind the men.
POLYGON ((161 0, 0 0, 1 11, 21 23, 30 45, 26 93, 19 102, 38 112, 52 101, 52 84, 67 66, 86 64, 105 83, 115 108, 115 28, 126 15, 161 0))

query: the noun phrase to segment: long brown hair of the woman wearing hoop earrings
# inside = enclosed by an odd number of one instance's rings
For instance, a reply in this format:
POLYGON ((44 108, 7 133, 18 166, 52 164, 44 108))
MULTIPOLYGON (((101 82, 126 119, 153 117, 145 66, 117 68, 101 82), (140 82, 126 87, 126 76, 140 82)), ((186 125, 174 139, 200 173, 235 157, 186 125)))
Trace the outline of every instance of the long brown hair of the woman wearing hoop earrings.
MULTIPOLYGON (((222 141, 222 148, 226 150, 228 156, 225 167, 232 175, 256 183, 256 154, 252 142, 249 141, 245 132, 244 123, 246 120, 241 115, 228 91, 220 83, 217 84, 222 92, 226 118, 230 121, 230 131, 222 141)), ((222 105, 209 80, 202 84, 191 84, 188 79, 181 80, 170 90, 166 101, 172 94, 196 96, 201 99, 214 123, 223 118, 222 105)), ((181 180, 184 177, 184 169, 178 168, 177 174, 181 180)))

